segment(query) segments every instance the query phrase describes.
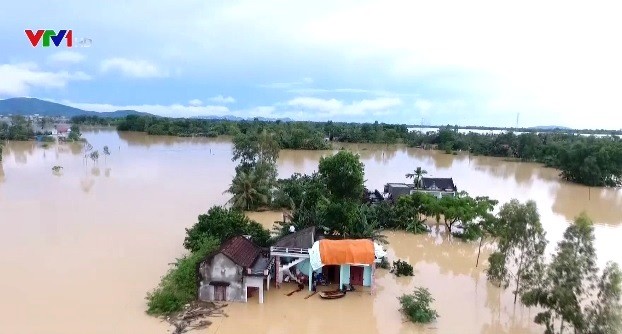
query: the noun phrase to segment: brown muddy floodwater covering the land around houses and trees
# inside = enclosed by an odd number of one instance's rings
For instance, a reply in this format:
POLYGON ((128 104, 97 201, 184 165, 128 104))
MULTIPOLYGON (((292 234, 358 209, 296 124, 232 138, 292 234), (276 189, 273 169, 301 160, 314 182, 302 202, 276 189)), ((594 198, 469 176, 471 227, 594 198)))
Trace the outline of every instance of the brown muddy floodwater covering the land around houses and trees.
MULTIPOLYGON (((224 204, 233 174, 227 139, 153 137, 91 131, 84 136, 102 153, 84 159, 79 145, 44 149, 11 142, 0 164, 0 333, 165 333, 166 324, 144 314, 145 293, 183 253, 184 228, 212 205, 224 204), (60 175, 51 168, 63 167, 60 175)), ((367 186, 406 181, 417 166, 453 177, 461 190, 508 201, 534 199, 554 243, 568 222, 586 211, 596 222, 599 263, 622 263, 622 191, 560 182, 536 164, 446 155, 385 145, 348 145, 361 154, 367 186)), ((279 175, 310 173, 330 152, 283 151, 279 175)), ((265 226, 279 213, 252 213, 265 226)), ((377 291, 339 300, 294 287, 271 288, 265 303, 231 303, 229 318, 206 333, 541 333, 534 310, 514 307, 512 295, 486 282, 475 268, 477 245, 444 238, 387 233, 390 259, 406 259, 414 277, 377 273, 377 291), (425 286, 436 298, 433 324, 405 323, 397 297, 425 286)), ((552 248, 552 247, 551 247, 552 248)), ((486 258, 487 251, 482 254, 486 258)))

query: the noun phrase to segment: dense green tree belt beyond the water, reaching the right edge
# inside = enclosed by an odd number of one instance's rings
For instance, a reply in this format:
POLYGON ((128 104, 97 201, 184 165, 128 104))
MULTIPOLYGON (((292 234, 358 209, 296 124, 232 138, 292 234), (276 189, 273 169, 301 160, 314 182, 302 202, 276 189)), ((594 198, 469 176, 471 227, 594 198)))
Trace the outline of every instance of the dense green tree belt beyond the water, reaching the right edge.
POLYGON ((436 132, 413 132, 411 146, 437 147, 447 153, 520 159, 560 170, 567 181, 588 186, 622 185, 622 139, 565 133, 460 133, 444 127, 436 132))

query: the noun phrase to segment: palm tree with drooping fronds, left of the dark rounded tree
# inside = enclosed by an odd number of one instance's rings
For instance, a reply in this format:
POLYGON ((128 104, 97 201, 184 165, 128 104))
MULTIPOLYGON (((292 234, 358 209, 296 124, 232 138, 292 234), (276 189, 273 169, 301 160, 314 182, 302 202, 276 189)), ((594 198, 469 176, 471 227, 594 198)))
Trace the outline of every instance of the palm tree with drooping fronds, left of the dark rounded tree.
POLYGON ((233 195, 229 200, 236 209, 250 210, 268 202, 268 196, 261 189, 262 180, 252 172, 239 171, 225 193, 233 195))

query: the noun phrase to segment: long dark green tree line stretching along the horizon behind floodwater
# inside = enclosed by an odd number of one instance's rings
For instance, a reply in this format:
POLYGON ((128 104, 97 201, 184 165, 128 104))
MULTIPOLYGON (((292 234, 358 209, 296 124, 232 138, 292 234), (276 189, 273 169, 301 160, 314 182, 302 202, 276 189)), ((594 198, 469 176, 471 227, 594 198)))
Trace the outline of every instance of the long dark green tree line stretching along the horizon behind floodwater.
POLYGON ((457 127, 451 126, 423 133, 409 132, 406 125, 378 122, 227 121, 136 115, 115 122, 120 131, 142 131, 154 135, 235 137, 266 131, 275 136, 281 149, 323 150, 330 148, 330 142, 405 143, 412 147, 438 148, 447 153, 465 151, 475 155, 539 162, 559 169, 564 180, 588 186, 622 185, 622 139, 614 135, 588 137, 552 131, 479 134, 461 133, 457 127))

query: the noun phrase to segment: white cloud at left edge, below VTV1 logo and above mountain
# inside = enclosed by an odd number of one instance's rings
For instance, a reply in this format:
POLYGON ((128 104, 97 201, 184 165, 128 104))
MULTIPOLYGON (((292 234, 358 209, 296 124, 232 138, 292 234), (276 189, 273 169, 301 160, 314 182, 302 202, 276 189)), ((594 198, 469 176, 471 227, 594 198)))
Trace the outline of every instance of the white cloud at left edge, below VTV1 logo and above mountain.
POLYGON ((34 88, 64 88, 69 81, 90 80, 84 72, 44 71, 35 63, 0 65, 0 95, 24 96, 34 88))

